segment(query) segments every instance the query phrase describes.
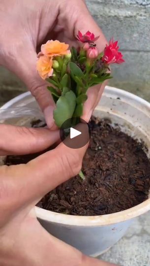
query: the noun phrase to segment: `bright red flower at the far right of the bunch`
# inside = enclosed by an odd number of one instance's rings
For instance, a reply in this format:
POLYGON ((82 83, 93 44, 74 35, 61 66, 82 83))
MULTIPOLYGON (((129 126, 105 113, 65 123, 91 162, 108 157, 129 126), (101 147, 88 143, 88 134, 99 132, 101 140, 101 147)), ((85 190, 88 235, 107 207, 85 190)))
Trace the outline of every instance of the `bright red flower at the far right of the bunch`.
POLYGON ((119 46, 118 46, 118 41, 113 40, 113 38, 109 41, 109 45, 106 45, 105 50, 104 50, 104 55, 102 57, 102 61, 109 64, 121 64, 124 61, 122 59, 123 55, 118 51, 119 46))

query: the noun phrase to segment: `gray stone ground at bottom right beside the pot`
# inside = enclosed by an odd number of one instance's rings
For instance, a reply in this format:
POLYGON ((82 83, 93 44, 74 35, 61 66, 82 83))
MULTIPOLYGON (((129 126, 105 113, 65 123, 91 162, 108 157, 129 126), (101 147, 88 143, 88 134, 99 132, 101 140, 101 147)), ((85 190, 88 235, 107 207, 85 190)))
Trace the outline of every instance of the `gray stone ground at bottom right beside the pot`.
POLYGON ((99 259, 120 266, 150 266, 150 212, 138 217, 126 235, 99 259))

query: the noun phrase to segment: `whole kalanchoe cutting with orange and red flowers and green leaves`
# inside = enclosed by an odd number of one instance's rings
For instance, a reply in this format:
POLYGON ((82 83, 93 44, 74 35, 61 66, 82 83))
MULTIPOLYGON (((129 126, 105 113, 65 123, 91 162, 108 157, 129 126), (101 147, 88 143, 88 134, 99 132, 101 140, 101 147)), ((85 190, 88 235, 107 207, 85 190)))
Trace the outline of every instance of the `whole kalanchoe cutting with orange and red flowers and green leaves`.
POLYGON ((99 54, 95 44, 98 38, 89 31, 85 34, 79 31, 77 40, 82 45, 78 49, 69 50, 68 44, 58 40, 49 40, 41 46, 37 70, 50 83, 48 90, 56 102, 54 120, 59 128, 67 119, 72 119, 72 125, 78 123, 88 89, 111 78, 110 64, 124 62, 118 41, 112 38, 99 54))

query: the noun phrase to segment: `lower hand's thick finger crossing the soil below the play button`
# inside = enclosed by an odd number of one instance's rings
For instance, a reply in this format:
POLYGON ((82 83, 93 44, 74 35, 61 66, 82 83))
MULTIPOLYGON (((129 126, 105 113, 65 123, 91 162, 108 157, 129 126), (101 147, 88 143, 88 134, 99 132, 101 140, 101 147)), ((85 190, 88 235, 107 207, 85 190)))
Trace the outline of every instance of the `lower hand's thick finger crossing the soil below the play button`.
POLYGON ((1 213, 0 217, 3 222, 19 208, 35 205, 49 191, 78 174, 87 145, 70 149, 60 143, 27 165, 1 166, 0 212, 5 210, 5 215, 1 213))

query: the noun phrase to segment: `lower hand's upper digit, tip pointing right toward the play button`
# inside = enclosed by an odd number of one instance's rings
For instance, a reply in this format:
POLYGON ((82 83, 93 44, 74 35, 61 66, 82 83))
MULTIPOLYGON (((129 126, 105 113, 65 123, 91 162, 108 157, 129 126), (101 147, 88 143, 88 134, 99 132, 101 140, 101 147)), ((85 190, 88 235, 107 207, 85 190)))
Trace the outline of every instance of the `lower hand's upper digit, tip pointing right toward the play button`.
POLYGON ((39 152, 50 147, 59 137, 59 131, 0 125, 0 155, 39 152))

